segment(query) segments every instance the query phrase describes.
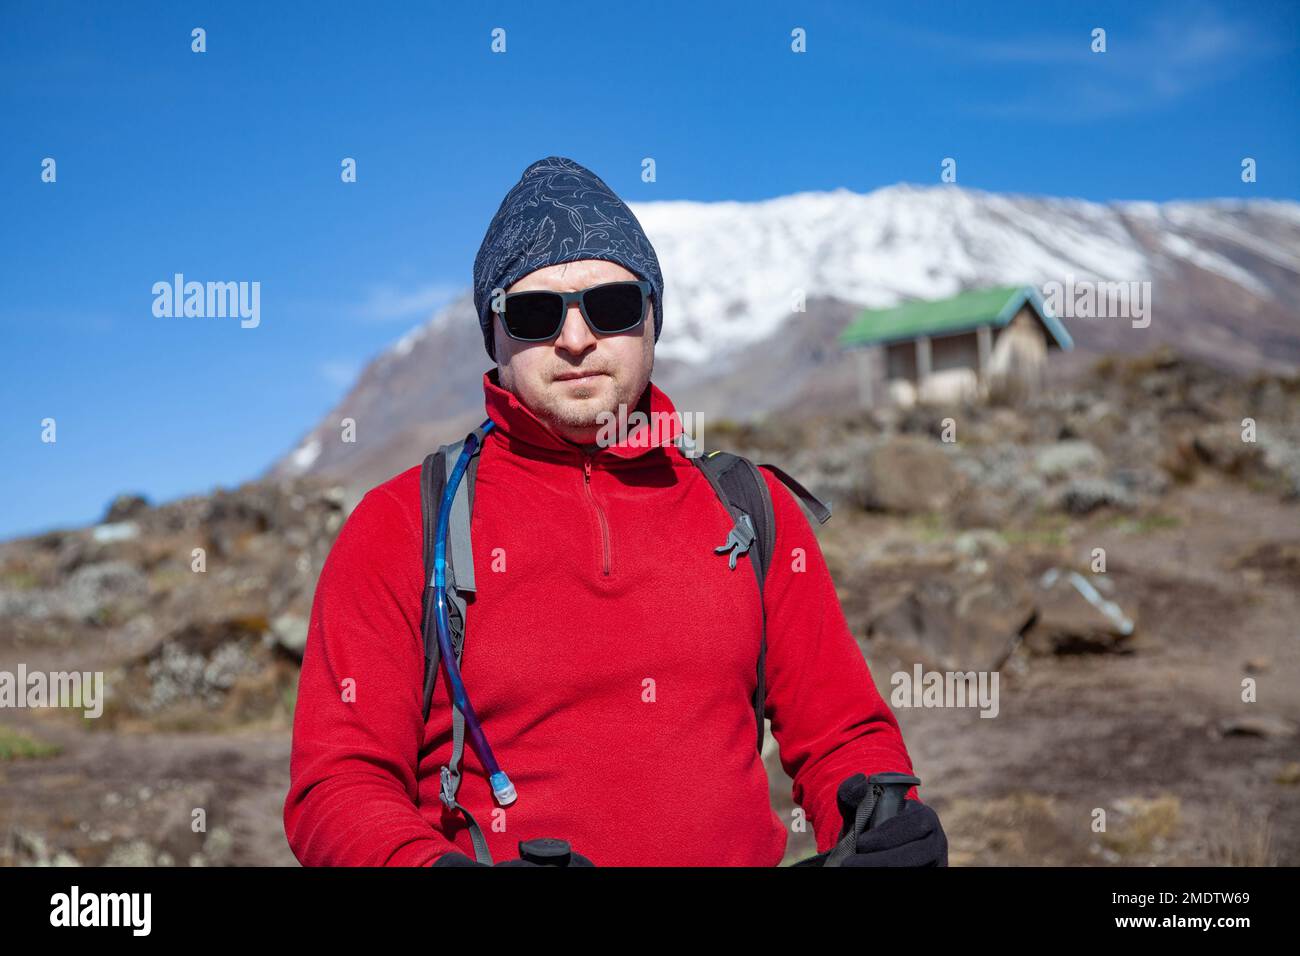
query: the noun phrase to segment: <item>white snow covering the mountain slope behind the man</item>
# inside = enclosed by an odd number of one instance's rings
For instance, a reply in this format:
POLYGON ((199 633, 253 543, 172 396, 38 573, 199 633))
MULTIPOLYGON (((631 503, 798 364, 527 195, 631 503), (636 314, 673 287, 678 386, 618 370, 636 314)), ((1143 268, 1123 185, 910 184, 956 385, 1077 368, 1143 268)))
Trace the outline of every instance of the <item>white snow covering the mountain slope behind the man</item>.
MULTIPOLYGON (((1187 260, 1251 287, 1251 278, 1199 239, 1225 238, 1300 272, 1300 207, 1260 204, 1295 241, 1291 254, 1234 224, 1234 204, 1117 203, 1005 196, 957 186, 845 189, 757 203, 633 206, 664 272, 658 354, 705 362, 770 336, 797 290, 866 307, 942 298, 979 285, 1066 276, 1154 281, 1187 260), (1149 248, 1132 224, 1171 233, 1149 248), (1186 234, 1184 234, 1186 233, 1186 234)), ((1260 294, 1268 289, 1253 286, 1260 294)))

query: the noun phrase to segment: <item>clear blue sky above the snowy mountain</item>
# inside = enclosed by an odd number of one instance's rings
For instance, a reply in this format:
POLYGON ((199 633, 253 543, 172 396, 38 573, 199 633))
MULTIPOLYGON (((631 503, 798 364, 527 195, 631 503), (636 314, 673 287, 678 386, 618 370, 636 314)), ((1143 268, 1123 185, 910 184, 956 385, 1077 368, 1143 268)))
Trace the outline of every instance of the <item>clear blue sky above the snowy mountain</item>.
POLYGON ((1300 5, 1080 7, 5 3, 0 538, 260 473, 468 286, 542 156, 641 202, 928 183, 945 156, 994 191, 1300 195, 1300 5), (259 326, 153 316, 177 272, 259 281, 259 326))

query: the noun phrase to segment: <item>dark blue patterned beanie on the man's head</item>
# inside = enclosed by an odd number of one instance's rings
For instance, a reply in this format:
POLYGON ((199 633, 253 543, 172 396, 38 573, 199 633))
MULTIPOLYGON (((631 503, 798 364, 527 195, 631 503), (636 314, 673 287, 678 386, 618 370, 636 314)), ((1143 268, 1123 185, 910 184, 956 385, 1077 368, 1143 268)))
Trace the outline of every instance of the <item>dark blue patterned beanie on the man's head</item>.
POLYGON ((493 362, 493 289, 510 289, 530 272, 578 259, 607 259, 651 285, 659 341, 663 276, 637 217, 590 169, 547 156, 528 166, 506 194, 474 256, 474 310, 493 362))

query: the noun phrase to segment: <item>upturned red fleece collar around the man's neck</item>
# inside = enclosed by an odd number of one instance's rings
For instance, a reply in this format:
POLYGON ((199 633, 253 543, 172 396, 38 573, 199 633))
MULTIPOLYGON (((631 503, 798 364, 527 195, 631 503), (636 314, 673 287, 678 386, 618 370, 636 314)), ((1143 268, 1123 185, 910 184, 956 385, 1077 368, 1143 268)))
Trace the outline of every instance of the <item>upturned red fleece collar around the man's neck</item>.
MULTIPOLYGON (((567 455, 581 455, 584 447, 559 436, 547 423, 542 421, 530 408, 528 408, 515 393, 502 388, 498 369, 484 372, 484 405, 495 427, 493 432, 500 432, 511 442, 521 441, 540 449, 558 451, 567 455)), ((651 449, 672 447, 673 440, 681 434, 681 419, 672 401, 655 386, 654 382, 646 385, 646 390, 637 402, 636 411, 642 412, 649 421, 632 421, 627 424, 627 436, 623 441, 603 445, 597 457, 614 455, 620 459, 634 459, 645 455, 651 449)))

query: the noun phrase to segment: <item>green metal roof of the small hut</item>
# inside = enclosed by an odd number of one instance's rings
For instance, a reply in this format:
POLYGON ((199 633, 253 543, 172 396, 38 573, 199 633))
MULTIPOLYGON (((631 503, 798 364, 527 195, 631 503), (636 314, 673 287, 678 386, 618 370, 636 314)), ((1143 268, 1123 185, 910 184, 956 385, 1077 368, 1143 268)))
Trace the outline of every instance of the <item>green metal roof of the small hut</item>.
POLYGON ((954 336, 980 325, 1006 325, 1030 303, 1062 349, 1074 347, 1070 333, 1052 315, 1034 286, 972 289, 936 302, 905 302, 893 308, 868 308, 840 333, 845 349, 900 342, 922 336, 954 336))

